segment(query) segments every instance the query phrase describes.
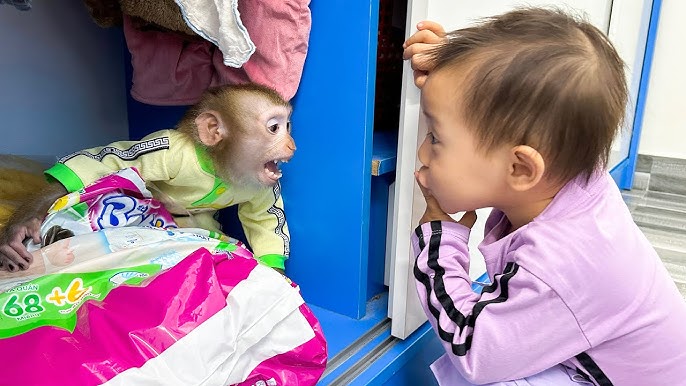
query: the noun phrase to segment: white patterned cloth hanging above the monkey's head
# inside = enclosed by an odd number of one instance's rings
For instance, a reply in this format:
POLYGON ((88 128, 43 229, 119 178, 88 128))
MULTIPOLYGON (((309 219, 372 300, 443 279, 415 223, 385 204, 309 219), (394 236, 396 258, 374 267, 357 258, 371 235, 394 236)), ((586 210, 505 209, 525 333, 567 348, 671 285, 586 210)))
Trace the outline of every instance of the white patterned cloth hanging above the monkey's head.
POLYGON ((239 68, 255 52, 255 44, 241 22, 238 0, 175 1, 186 24, 219 47, 225 65, 239 68))

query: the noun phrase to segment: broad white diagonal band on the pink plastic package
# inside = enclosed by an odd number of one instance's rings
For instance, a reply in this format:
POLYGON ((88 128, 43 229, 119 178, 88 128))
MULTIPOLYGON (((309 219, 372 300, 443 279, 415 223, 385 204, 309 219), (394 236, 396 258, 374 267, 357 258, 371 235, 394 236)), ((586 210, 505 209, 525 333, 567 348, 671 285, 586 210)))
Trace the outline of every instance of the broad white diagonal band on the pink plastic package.
POLYGON ((103 386, 243 382, 264 360, 314 338, 298 309, 303 302, 297 287, 258 264, 229 292, 226 307, 155 358, 120 372, 103 386))

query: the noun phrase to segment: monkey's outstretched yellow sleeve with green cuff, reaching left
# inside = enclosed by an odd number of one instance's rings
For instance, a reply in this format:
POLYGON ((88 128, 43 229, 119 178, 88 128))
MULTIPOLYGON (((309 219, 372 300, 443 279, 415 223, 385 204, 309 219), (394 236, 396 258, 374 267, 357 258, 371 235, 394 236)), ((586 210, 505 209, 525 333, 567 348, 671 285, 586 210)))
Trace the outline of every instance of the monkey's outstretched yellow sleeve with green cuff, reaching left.
POLYGON ((140 141, 119 141, 77 151, 60 159, 45 174, 61 182, 69 192, 127 167, 135 167, 145 181, 167 181, 181 164, 169 162, 174 158, 171 146, 184 139, 174 130, 161 130, 140 141))

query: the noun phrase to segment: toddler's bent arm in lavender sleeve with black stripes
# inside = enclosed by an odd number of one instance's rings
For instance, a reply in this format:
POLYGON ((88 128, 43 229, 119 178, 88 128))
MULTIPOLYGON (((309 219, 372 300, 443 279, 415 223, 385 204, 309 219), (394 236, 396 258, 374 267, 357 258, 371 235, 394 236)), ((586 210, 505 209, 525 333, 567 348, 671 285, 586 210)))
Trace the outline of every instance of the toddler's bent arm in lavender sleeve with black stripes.
POLYGON ((482 384, 531 376, 590 347, 557 293, 516 263, 496 273, 482 294, 474 293, 469 231, 454 222, 431 221, 412 236, 420 302, 467 380, 482 384))

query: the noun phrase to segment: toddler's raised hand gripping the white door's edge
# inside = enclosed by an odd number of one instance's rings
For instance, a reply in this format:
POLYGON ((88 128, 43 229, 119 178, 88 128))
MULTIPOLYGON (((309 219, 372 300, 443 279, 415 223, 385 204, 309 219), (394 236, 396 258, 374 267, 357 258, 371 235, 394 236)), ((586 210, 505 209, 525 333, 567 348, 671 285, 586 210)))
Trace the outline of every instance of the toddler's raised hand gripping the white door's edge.
POLYGON ((414 84, 422 88, 433 67, 423 53, 444 42, 445 31, 443 26, 433 21, 421 21, 417 24, 417 29, 418 31, 403 43, 403 59, 410 59, 414 70, 414 84))

